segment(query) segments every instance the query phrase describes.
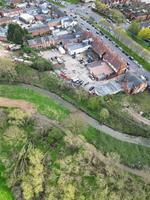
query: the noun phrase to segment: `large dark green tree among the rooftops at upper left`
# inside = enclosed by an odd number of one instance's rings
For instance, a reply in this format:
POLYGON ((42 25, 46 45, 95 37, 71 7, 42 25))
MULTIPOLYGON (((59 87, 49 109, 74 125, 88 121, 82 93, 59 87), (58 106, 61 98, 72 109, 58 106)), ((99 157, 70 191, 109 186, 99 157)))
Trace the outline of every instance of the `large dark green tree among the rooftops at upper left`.
POLYGON ((22 29, 18 24, 9 24, 7 40, 15 44, 23 44, 27 36, 27 31, 22 29))

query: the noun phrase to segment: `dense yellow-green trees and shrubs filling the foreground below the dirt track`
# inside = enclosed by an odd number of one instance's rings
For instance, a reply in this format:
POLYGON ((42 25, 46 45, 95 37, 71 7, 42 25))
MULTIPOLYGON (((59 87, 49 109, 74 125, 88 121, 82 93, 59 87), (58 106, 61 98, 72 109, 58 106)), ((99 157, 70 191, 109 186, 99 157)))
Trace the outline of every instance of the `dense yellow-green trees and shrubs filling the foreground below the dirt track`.
MULTIPOLYGON (((150 185, 122 172, 116 154, 105 161, 83 136, 42 118, 30 116, 26 124, 8 123, 14 111, 0 110, 0 160, 14 199, 148 199, 150 185)), ((11 200, 9 195, 5 197, 11 200)))

